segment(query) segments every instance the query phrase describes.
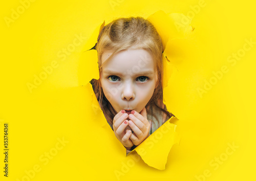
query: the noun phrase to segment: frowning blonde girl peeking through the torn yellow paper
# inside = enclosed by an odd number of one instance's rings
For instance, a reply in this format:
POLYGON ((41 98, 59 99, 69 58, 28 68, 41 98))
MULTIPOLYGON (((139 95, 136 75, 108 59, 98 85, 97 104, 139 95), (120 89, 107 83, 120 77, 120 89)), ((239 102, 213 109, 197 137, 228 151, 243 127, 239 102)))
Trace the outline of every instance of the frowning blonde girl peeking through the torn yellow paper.
POLYGON ((92 48, 100 78, 91 80, 103 114, 126 154, 174 116, 163 104, 162 40, 142 17, 115 19, 92 48))

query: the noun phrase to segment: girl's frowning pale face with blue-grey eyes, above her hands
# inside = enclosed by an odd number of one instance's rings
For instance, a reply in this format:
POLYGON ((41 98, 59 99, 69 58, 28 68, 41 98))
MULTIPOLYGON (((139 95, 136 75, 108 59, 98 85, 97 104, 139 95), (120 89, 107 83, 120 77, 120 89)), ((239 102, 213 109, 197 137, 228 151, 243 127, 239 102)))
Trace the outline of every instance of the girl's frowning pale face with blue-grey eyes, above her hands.
MULTIPOLYGON (((112 53, 104 52, 102 63, 112 53)), ((140 112, 151 99, 157 78, 153 57, 143 49, 118 52, 102 66, 100 74, 104 95, 117 112, 140 112)))

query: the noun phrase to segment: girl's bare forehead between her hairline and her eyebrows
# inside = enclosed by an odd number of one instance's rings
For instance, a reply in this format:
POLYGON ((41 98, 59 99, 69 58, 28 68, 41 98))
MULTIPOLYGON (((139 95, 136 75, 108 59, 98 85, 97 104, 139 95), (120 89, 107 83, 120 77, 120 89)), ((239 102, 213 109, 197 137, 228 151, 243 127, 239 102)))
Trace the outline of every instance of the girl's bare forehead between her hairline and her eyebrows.
MULTIPOLYGON (((102 63, 111 55, 112 52, 104 52, 101 57, 102 63)), ((116 53, 102 66, 103 73, 106 71, 122 73, 127 70, 132 70, 136 73, 154 71, 154 58, 152 54, 144 49, 127 49, 116 53)))

